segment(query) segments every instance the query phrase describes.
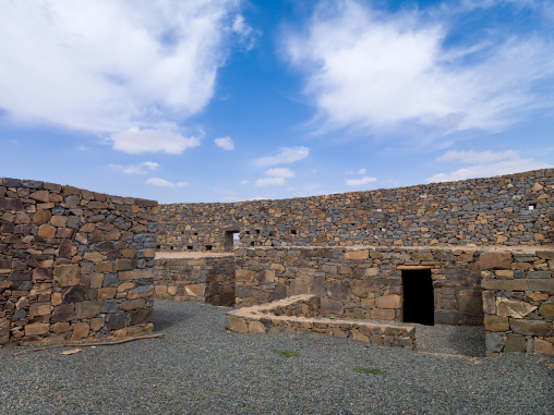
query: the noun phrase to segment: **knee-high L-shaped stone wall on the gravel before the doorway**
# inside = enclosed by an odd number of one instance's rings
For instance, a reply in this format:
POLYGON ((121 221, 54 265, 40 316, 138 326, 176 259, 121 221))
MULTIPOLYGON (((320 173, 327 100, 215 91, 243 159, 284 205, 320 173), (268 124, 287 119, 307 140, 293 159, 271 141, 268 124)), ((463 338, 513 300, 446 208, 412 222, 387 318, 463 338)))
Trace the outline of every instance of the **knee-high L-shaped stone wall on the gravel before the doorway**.
POLYGON ((397 345, 416 350, 416 328, 366 321, 313 318, 320 315, 320 297, 298 295, 269 304, 227 313, 225 327, 229 331, 251 333, 316 332, 351 338, 366 343, 397 345))

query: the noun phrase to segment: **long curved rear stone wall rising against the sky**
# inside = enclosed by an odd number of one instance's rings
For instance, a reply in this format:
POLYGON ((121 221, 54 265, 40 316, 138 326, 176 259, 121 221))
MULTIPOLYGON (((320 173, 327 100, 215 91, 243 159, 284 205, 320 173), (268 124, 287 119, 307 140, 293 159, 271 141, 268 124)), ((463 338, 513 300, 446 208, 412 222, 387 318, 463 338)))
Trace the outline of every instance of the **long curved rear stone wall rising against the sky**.
POLYGON ((554 241, 554 170, 232 204, 160 205, 160 251, 313 245, 542 245, 554 241), (532 209, 532 210, 530 210, 532 209))

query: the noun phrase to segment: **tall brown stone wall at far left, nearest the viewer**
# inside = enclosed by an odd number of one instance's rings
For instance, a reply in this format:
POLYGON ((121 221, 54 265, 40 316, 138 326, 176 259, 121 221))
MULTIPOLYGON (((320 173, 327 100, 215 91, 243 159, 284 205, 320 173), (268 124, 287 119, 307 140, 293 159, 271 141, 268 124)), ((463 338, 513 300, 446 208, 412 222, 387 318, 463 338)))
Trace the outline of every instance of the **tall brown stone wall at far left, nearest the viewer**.
POLYGON ((157 210, 0 179, 0 346, 150 331, 157 210))

